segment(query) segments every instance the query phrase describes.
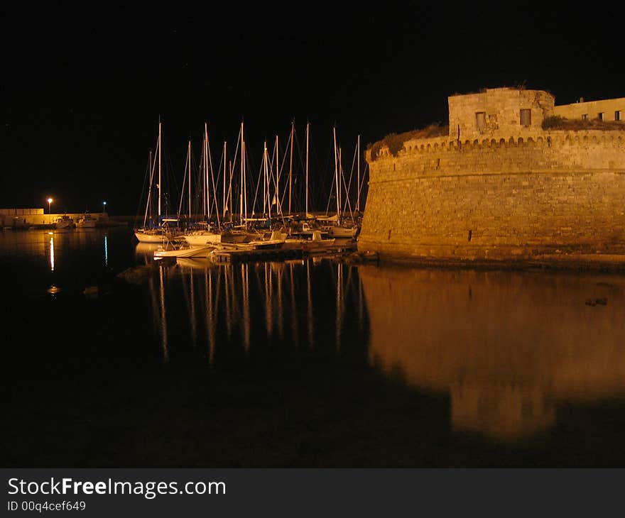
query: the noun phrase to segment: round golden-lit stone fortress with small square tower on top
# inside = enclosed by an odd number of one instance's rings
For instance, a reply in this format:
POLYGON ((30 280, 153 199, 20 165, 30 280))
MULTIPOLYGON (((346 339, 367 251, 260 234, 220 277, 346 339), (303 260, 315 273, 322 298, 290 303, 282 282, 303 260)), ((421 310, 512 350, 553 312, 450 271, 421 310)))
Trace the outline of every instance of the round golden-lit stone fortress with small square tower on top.
MULTIPOLYGON (((625 109, 625 98, 610 102, 625 109)), ((449 107, 448 136, 408 139, 396 155, 384 145, 367 152, 360 250, 445 260, 625 255, 625 131, 543 131, 558 113, 543 91, 487 89, 452 96, 449 107)))

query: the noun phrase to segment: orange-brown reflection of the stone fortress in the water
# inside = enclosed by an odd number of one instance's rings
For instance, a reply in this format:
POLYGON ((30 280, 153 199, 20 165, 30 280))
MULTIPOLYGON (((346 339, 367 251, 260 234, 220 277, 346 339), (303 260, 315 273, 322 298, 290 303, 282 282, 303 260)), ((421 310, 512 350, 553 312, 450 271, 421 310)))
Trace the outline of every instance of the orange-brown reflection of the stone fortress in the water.
POLYGON ((555 424, 558 404, 625 395, 625 281, 359 268, 371 360, 448 392, 452 426, 498 439, 555 424), (607 305, 590 307, 592 297, 607 305))

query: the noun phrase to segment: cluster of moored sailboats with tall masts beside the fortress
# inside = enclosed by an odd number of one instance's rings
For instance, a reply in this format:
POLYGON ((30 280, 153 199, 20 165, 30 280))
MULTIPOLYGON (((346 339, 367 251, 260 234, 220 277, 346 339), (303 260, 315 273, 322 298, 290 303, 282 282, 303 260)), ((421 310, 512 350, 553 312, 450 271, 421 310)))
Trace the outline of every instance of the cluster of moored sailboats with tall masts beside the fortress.
MULTIPOLYGON (((246 146, 243 124, 237 142, 234 165, 227 167, 226 144, 224 143, 223 169, 216 175, 212 170, 207 129, 202 143, 202 159, 195 172, 195 190, 192 191, 194 171, 192 171, 191 145, 185 165, 183 194, 180 197, 178 212, 173 216, 163 214, 163 170, 161 122, 158 125, 158 140, 154 160, 150 155, 148 175, 149 190, 144 211, 143 225, 134 228, 139 243, 158 244, 155 258, 214 258, 234 260, 234 258, 293 257, 311 253, 339 253, 356 249, 356 239, 360 229, 362 213, 359 207, 359 194, 362 187, 361 175, 357 170, 354 181, 357 200, 354 206, 349 202, 350 186, 345 180, 340 165, 340 148, 335 138, 335 178, 332 182, 332 197, 336 200, 335 213, 312 214, 308 207, 308 125, 306 128, 307 155, 305 165, 305 202, 302 211, 294 211, 291 199, 293 187, 292 168, 286 172, 278 170, 278 141, 274 155, 269 158, 267 145, 263 150, 263 162, 259 177, 246 172, 246 146), (238 159, 238 160, 237 160, 238 159), (237 167, 237 162, 240 166, 237 167), (236 174, 235 174, 236 171, 236 174), (221 181, 222 192, 216 185, 221 181), (247 185, 256 185, 254 201, 248 202, 247 185), (186 185, 186 189, 185 189, 186 185), (187 203, 184 204, 184 197, 187 203), (262 197, 262 203, 259 198, 262 197), (196 203, 193 210, 192 200, 196 203), (197 209, 197 202, 201 208, 197 209), (237 202, 238 207, 234 206, 237 202), (221 203, 219 203, 221 202, 221 203), (221 204, 221 206, 219 206, 221 204), (183 211, 183 206, 188 211, 183 211), (238 208, 238 214, 235 209, 238 208)), ((290 136, 291 164, 293 153, 293 127, 290 136)), ((359 157, 359 140, 357 144, 359 157)), ((358 160, 359 167, 359 160, 358 160)), ((363 175, 364 176, 364 175, 363 175)), ((146 182, 147 183, 147 182, 146 182)), ((328 203, 330 206, 330 203, 328 203)))

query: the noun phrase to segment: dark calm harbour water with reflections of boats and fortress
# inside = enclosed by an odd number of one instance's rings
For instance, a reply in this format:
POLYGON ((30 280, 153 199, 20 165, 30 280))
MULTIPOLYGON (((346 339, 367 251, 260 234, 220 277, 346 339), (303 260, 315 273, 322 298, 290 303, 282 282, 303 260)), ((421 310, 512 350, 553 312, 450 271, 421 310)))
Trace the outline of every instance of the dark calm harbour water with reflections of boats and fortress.
POLYGON ((625 465, 623 276, 152 252, 0 234, 4 465, 625 465))

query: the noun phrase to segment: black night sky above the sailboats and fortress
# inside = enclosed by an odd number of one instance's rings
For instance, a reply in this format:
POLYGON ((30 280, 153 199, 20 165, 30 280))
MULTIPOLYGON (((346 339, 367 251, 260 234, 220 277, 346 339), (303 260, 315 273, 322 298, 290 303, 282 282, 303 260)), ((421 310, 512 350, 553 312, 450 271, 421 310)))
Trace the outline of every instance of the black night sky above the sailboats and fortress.
POLYGON ((308 120, 322 176, 332 126, 349 169, 357 135, 446 123, 450 94, 625 97, 623 22, 592 6, 49 4, 1 11, 1 208, 137 214, 159 116, 181 182, 205 122, 218 162, 243 119, 259 167, 264 139, 285 145, 295 119, 301 145, 308 120))

